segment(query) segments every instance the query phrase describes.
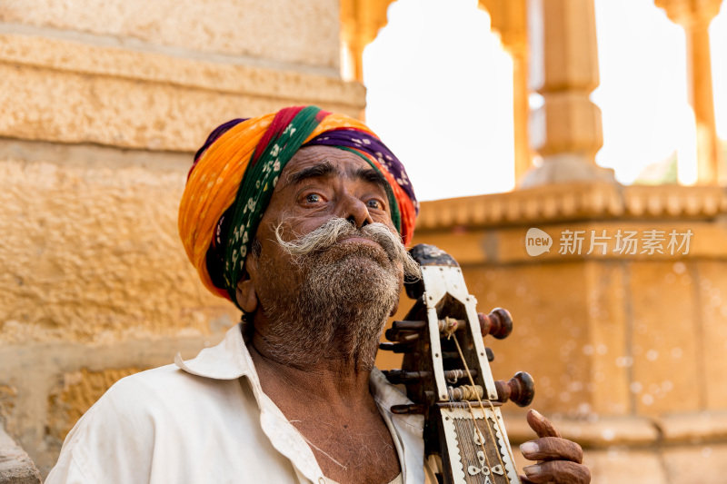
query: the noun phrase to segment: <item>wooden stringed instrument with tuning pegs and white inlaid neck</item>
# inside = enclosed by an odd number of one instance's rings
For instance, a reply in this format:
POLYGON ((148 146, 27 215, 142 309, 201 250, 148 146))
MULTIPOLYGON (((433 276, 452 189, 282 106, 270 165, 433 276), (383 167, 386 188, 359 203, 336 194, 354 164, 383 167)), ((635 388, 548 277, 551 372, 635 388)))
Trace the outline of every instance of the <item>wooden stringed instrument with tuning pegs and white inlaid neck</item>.
POLYGON ((421 265, 422 279, 406 284, 413 307, 386 331, 393 342, 380 348, 403 353, 402 369, 383 373, 393 384, 405 385, 413 404, 391 410, 423 413, 424 457, 436 462, 439 482, 519 484, 500 407, 507 400, 530 404, 533 378, 518 372, 508 381, 493 380, 493 353, 483 342, 487 335, 510 334, 510 313, 497 308, 478 315, 477 301, 448 253, 427 244, 410 253, 421 265))

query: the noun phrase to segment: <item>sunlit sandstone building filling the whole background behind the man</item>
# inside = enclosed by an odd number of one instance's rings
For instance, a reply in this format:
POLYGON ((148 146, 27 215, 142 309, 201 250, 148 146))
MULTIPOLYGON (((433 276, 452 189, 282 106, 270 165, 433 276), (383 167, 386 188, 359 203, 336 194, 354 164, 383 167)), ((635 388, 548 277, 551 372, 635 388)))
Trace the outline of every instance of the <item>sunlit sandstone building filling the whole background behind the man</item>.
POLYGON ((533 374, 533 407, 583 444, 593 482, 723 482, 721 4, 0 3, 0 454, 45 475, 115 380, 238 320, 178 242, 192 154, 234 117, 318 104, 403 159, 426 200, 414 242, 453 254, 482 311, 513 313, 488 341, 495 376, 533 374), (644 80, 659 59, 672 69, 644 80))

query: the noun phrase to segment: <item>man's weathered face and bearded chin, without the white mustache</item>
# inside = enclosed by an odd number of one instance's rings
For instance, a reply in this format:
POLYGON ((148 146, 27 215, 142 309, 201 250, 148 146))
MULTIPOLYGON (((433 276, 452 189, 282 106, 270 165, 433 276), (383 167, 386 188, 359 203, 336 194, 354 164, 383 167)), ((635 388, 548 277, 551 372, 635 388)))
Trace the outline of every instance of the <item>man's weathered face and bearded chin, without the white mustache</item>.
POLYGON ((389 238, 399 237, 379 173, 354 153, 304 148, 281 174, 257 231, 261 250, 246 262, 259 301, 255 331, 270 346, 284 347, 275 356, 289 364, 338 352, 357 367, 372 366, 383 323, 398 301, 402 263, 374 242, 381 239, 365 235, 368 229, 300 256, 277 240, 315 236, 336 218, 356 228, 379 222, 389 238))

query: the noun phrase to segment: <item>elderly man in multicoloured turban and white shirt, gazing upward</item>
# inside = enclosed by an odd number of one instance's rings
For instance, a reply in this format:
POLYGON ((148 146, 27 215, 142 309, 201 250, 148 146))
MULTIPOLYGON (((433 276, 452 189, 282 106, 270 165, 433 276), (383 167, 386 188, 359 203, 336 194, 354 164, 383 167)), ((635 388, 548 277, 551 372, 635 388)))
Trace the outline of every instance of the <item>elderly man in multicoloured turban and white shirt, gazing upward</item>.
MULTIPOLYGON (((424 482, 422 416, 373 368, 417 212, 364 124, 314 106, 224 123, 197 152, 179 229, 244 322, 191 361, 117 382, 47 482, 424 482)), ((543 435, 549 423, 531 414, 543 435)), ((532 482, 587 483, 577 444, 523 444, 532 482)), ((526 482, 528 480, 525 480, 526 482)))

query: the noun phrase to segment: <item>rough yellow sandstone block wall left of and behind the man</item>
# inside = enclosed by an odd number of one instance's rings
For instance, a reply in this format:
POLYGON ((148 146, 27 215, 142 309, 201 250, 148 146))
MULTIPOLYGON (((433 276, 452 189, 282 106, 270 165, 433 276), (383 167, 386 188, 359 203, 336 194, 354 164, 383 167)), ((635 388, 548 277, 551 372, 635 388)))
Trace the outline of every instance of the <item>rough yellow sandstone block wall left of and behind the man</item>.
POLYGON ((176 229, 194 151, 234 117, 357 115, 335 0, 0 4, 0 420, 45 475, 115 380, 239 318, 176 229))

